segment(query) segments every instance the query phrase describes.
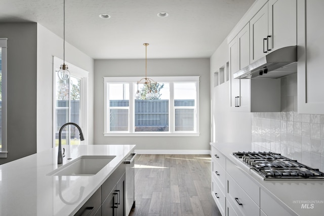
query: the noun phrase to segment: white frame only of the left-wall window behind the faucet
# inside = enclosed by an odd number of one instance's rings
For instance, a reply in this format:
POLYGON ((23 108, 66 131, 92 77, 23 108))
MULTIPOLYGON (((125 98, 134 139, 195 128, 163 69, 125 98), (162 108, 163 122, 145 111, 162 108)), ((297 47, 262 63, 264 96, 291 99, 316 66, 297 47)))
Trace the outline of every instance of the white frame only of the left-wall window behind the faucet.
MULTIPOLYGON (((53 147, 55 147, 55 134, 56 131, 56 77, 57 72, 62 64, 63 60, 53 56, 53 147)), ((85 140, 80 142, 80 145, 88 145, 88 77, 89 72, 79 68, 69 62, 66 62, 68 65, 68 70, 72 77, 81 79, 80 83, 80 127, 82 129, 85 140)), ((70 113, 70 110, 69 110, 70 113)))

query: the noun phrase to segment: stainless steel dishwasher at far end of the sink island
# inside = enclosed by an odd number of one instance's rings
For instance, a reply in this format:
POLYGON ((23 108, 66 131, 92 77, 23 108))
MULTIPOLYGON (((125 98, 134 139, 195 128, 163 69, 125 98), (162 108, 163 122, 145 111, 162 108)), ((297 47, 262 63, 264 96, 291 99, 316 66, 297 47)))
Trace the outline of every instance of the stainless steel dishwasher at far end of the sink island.
POLYGON ((129 215, 131 209, 135 207, 135 157, 132 152, 125 160, 126 163, 126 192, 125 192, 125 213, 129 215))

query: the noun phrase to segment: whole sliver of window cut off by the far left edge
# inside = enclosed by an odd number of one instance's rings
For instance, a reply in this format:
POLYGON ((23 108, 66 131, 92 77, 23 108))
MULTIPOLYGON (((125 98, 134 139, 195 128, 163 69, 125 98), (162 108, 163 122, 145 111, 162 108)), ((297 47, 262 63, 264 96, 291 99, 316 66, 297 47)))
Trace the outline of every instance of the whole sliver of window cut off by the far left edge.
POLYGON ((7 38, 0 38, 0 158, 7 157, 7 38))

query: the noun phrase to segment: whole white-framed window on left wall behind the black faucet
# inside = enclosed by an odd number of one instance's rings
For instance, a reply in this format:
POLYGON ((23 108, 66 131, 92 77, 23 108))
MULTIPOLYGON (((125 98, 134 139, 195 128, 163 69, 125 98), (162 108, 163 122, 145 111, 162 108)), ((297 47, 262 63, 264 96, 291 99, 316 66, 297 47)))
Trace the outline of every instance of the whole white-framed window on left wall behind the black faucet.
MULTIPOLYGON (((67 63, 71 73, 70 78, 61 80, 57 71, 63 60, 54 57, 54 146, 59 142, 59 130, 67 122, 78 124, 85 136, 83 144, 87 143, 87 88, 88 72, 67 63)), ((80 145, 78 129, 67 125, 62 131, 62 145, 80 145)))

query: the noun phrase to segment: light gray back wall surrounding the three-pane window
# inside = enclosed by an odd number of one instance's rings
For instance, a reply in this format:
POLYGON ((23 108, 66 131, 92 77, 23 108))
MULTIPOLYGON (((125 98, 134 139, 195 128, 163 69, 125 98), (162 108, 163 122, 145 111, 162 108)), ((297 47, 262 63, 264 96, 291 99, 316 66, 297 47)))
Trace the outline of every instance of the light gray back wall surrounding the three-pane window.
POLYGON ((148 59, 148 76, 200 76, 199 137, 104 137, 103 77, 145 76, 145 59, 95 60, 95 144, 136 144, 137 150, 209 150, 210 142, 210 60, 148 59))

